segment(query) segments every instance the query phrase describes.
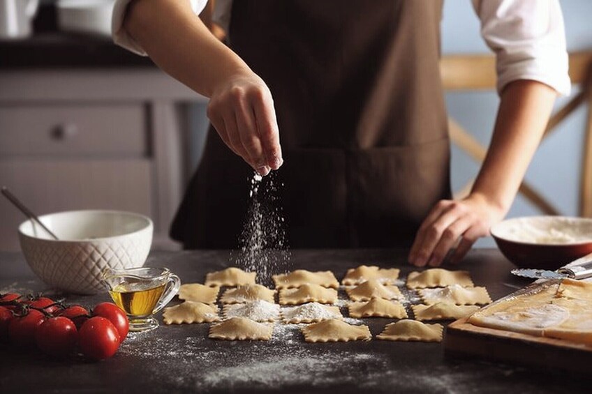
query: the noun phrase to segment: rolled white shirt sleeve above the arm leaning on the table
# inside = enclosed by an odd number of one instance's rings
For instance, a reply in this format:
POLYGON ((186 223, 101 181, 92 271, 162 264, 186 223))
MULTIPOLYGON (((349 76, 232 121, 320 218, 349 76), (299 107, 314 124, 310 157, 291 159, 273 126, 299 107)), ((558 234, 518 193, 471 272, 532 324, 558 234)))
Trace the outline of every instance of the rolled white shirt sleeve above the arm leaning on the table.
POLYGON ((481 34, 496 53, 497 89, 533 79, 567 96, 571 90, 558 0, 472 0, 481 34))

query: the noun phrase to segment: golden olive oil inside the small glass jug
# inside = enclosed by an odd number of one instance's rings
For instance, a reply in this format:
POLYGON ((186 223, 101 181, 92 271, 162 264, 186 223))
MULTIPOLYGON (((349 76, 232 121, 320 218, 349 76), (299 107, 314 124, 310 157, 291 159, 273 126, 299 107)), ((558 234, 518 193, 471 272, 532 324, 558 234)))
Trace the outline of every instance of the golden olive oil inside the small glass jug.
POLYGON ((145 283, 120 283, 109 291, 113 301, 132 317, 152 315, 156 303, 161 299, 166 283, 146 288, 145 283))

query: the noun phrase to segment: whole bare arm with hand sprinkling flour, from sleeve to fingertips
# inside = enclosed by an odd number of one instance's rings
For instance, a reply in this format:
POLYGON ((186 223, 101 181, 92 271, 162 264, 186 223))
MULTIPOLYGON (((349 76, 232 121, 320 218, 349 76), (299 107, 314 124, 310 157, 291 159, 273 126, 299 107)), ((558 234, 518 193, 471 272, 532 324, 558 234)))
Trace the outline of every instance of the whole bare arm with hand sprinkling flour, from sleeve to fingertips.
POLYGON ((134 0, 123 28, 158 67, 210 98, 207 116, 233 152, 262 175, 281 166, 269 88, 209 32, 188 0, 134 0))

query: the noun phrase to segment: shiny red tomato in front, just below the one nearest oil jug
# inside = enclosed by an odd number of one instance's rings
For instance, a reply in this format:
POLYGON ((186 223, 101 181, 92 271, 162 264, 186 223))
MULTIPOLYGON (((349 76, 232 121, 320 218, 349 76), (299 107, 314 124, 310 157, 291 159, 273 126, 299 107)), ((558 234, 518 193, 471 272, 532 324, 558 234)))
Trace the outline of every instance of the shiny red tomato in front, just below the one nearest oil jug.
POLYGON ((105 317, 91 317, 82 324, 78 335, 80 350, 92 360, 113 356, 119 348, 119 333, 105 317))

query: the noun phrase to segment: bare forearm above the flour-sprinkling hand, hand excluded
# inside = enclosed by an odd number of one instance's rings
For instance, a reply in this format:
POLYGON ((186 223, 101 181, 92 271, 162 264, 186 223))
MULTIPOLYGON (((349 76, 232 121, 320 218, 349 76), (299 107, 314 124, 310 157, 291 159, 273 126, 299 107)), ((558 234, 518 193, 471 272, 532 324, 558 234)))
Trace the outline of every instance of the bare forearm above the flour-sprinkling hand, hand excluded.
POLYGON ((250 72, 209 32, 189 1, 134 0, 123 28, 158 67, 204 96, 211 97, 230 76, 250 72))

